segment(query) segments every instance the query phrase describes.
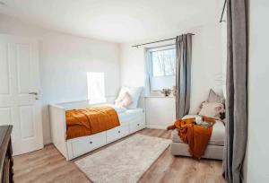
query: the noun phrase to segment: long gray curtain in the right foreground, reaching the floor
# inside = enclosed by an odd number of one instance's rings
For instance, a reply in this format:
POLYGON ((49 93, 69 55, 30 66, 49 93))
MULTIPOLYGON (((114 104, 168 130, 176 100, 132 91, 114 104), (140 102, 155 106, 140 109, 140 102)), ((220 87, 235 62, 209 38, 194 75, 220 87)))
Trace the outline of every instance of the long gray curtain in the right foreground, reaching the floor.
POLYGON ((242 182, 242 164, 247 149, 247 4, 227 1, 227 100, 224 177, 242 182))

